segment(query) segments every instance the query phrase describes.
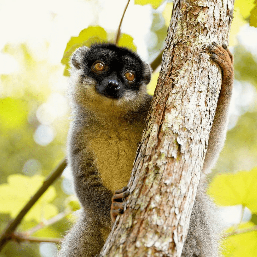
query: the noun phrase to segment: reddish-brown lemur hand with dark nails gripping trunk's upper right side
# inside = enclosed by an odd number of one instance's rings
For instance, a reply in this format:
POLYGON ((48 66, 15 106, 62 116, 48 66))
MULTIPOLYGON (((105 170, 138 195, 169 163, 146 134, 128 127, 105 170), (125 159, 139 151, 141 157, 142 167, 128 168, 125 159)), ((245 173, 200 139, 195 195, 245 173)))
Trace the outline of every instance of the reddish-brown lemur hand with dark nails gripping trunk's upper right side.
POLYGON ((220 46, 216 42, 212 42, 212 44, 208 45, 208 49, 212 59, 217 62, 222 69, 222 80, 233 80, 233 54, 228 50, 227 45, 222 44, 222 46, 220 46))

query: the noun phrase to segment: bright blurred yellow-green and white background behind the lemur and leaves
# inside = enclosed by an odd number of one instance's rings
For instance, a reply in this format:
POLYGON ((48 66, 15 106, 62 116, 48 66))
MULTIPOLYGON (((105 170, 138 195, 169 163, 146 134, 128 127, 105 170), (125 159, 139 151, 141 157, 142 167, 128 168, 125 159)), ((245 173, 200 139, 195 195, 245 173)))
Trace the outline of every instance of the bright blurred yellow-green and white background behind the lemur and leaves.
MULTIPOLYGON (((67 77, 63 76, 60 61, 67 42, 92 25, 102 26, 113 36, 126 3, 127 0, 0 0, 0 183, 8 182, 13 188, 12 196, 0 197, 1 231, 29 199, 27 191, 33 195, 43 178, 65 157, 69 107, 65 97, 67 77)), ((257 166, 257 29, 245 20, 253 7, 253 1, 236 0, 229 47, 235 55, 229 132, 213 174, 257 166)), ((134 38, 137 52, 149 63, 163 48, 170 13, 167 1, 157 9, 150 4, 135 5, 134 1, 128 6, 122 32, 134 38)), ((153 74, 151 92, 157 77, 158 72, 153 74)), ((19 230, 29 230, 64 213, 66 218, 43 226, 33 236, 64 234, 72 221, 69 211, 78 208, 70 172, 65 170, 50 189, 38 213, 33 210, 34 215, 26 215, 19 230)), ((243 221, 251 220, 251 211, 244 210, 243 221)), ((227 226, 238 223, 241 212, 241 205, 223 207, 227 226)), ((0 256, 50 257, 56 252, 54 243, 10 242, 0 256)))

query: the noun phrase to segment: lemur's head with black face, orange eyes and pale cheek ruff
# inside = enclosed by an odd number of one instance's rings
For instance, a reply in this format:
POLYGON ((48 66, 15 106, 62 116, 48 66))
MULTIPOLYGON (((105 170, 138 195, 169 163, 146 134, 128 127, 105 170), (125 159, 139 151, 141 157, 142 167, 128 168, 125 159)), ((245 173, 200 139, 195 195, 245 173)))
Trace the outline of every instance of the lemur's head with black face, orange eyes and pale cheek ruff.
POLYGON ((80 47, 71 58, 71 66, 72 95, 82 106, 129 111, 144 102, 150 68, 126 48, 114 44, 80 47))

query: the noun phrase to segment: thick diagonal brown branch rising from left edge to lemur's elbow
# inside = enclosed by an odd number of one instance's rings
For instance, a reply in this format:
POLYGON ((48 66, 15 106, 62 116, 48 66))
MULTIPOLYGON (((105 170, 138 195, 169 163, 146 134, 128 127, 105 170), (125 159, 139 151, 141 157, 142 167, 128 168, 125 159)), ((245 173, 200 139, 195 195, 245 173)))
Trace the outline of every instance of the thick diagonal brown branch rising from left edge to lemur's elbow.
POLYGON ((47 179, 43 182, 42 186, 38 189, 35 195, 27 202, 16 218, 7 225, 0 237, 0 251, 3 249, 4 245, 8 240, 12 239, 12 235, 16 227, 20 224, 23 217, 31 209, 31 207, 36 203, 36 201, 43 195, 43 193, 48 189, 50 185, 61 175, 62 171, 66 167, 66 160, 62 160, 59 165, 51 172, 47 179))

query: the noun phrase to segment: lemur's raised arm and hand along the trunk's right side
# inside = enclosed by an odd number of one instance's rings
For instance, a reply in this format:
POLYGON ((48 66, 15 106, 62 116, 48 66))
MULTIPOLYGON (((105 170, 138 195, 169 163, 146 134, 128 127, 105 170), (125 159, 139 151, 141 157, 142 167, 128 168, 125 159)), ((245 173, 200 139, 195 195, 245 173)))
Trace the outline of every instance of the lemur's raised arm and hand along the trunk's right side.
POLYGON ((211 58, 222 69, 222 84, 204 160, 204 173, 209 173, 210 169, 215 165, 226 139, 228 107, 234 79, 233 55, 227 49, 227 46, 222 44, 221 47, 215 42, 212 42, 212 44, 208 46, 208 49, 211 53, 211 58))

